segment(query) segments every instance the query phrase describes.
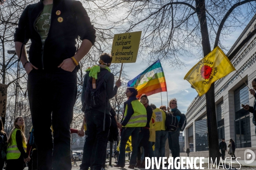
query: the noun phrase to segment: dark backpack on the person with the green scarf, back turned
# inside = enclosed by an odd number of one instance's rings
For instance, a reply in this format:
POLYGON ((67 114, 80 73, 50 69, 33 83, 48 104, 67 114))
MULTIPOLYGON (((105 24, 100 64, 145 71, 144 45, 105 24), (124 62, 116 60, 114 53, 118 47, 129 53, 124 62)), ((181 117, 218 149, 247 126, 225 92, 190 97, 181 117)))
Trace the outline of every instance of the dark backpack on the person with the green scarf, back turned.
POLYGON ((89 108, 99 108, 102 105, 107 105, 107 91, 104 87, 104 79, 105 74, 108 73, 107 69, 101 69, 98 73, 98 79, 96 79, 96 88, 93 89, 93 77, 89 77, 87 81, 87 86, 85 88, 84 93, 84 103, 89 108))

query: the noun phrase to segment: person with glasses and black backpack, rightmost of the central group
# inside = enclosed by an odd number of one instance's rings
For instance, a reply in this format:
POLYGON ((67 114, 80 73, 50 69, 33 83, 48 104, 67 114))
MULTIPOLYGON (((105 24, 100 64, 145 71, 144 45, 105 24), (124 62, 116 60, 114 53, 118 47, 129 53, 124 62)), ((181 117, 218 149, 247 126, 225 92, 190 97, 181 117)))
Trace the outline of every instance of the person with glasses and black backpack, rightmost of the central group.
MULTIPOLYGON (((169 108, 171 108, 171 114, 173 116, 176 116, 176 118, 180 122, 181 113, 177 107, 177 99, 173 98, 170 100, 169 108)), ((175 160, 176 157, 180 157, 179 136, 180 136, 179 126, 177 127, 177 130, 175 132, 169 132, 168 134, 169 148, 172 151, 173 160, 175 160)), ((177 160, 177 162, 178 161, 179 160, 177 160)))

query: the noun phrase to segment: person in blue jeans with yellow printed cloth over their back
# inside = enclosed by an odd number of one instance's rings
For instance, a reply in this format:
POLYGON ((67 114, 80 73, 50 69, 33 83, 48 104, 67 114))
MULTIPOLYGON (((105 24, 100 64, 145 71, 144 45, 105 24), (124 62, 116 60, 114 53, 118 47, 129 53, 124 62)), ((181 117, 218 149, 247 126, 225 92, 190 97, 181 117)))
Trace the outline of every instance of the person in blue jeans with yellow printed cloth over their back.
POLYGON ((156 142, 155 142, 155 150, 154 156, 164 157, 165 154, 165 143, 168 138, 168 132, 166 131, 165 121, 166 121, 166 113, 163 110, 157 108, 154 104, 150 104, 153 112, 156 114, 156 142))

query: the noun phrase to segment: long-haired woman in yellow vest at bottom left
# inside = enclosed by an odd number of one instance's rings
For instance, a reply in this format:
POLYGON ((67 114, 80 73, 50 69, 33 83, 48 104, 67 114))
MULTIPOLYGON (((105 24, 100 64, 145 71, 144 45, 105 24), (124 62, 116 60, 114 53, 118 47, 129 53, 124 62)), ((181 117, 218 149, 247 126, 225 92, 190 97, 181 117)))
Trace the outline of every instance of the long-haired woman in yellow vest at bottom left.
POLYGON ((23 170, 24 162, 30 160, 26 154, 26 137, 24 135, 25 124, 23 117, 14 120, 14 127, 10 133, 6 159, 6 170, 23 170))

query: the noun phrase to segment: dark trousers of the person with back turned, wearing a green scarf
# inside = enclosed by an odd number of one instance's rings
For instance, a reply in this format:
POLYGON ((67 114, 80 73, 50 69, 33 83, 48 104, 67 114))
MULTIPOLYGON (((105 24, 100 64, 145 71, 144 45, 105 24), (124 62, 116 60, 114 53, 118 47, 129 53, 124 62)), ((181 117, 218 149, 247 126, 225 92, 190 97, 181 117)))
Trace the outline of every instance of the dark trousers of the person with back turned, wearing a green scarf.
POLYGON ((105 150, 107 149, 111 119, 106 114, 105 131, 103 131, 104 113, 90 109, 90 111, 85 113, 85 118, 87 138, 84 143, 84 154, 80 168, 88 170, 91 167, 91 170, 100 170, 105 158, 105 150), (95 149, 93 149, 94 144, 96 144, 95 149))

